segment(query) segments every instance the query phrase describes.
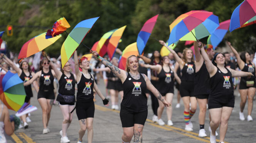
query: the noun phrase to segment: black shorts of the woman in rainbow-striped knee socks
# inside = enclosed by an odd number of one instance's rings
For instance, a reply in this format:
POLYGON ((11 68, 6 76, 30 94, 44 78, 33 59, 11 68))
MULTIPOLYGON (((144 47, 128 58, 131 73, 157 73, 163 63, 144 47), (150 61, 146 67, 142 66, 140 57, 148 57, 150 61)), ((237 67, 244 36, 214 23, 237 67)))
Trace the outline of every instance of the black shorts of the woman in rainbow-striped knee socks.
POLYGON ((194 95, 194 82, 182 81, 180 83, 180 96, 185 97, 195 97, 194 95))

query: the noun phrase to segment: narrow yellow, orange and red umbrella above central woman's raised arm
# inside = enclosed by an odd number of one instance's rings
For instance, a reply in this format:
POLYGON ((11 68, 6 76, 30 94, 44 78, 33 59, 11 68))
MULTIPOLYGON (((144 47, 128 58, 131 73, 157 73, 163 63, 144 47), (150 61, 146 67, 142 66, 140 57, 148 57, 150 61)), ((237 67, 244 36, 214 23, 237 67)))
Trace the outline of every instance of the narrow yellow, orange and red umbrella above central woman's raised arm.
POLYGON ((119 28, 115 32, 113 32, 111 38, 109 39, 107 52, 108 52, 108 57, 110 58, 110 61, 115 54, 116 48, 118 46, 118 43, 120 43, 120 39, 123 35, 123 31, 125 31, 125 28, 126 28, 126 25, 119 28))

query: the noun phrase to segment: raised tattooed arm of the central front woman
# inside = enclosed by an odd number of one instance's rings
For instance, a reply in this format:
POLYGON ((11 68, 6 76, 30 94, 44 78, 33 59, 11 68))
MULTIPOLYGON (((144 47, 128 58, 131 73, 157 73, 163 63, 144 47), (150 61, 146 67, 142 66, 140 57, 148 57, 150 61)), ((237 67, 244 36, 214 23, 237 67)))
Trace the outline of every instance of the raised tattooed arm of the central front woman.
POLYGON ((92 53, 93 53, 93 56, 95 56, 97 59, 99 59, 99 61, 101 61, 106 67, 109 67, 111 72, 113 72, 113 74, 115 74, 119 79, 121 79, 122 82, 125 81, 125 79, 127 77, 127 75, 126 75, 127 72, 126 71, 124 71, 122 69, 119 69, 118 67, 114 66, 108 60, 99 56, 96 51, 93 51, 92 53))

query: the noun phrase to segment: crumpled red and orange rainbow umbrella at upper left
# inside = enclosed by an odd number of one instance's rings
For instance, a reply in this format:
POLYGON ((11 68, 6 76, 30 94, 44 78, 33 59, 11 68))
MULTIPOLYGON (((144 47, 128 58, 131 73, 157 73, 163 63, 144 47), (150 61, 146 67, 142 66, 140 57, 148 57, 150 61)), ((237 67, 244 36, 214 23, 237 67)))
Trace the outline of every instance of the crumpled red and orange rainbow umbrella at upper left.
POLYGON ((52 25, 52 29, 51 30, 47 30, 47 33, 45 35, 45 38, 52 38, 55 37, 57 35, 60 35, 61 33, 63 33, 64 31, 67 30, 67 28, 69 28, 70 25, 67 22, 66 18, 60 18, 59 20, 57 20, 53 25, 52 25))

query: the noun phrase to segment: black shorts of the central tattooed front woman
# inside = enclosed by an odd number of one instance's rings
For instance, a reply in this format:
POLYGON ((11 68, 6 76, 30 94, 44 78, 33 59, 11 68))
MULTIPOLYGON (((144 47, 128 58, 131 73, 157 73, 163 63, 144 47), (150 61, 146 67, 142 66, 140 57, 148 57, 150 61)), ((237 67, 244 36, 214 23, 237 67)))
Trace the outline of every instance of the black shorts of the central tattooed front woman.
POLYGON ((120 118, 123 128, 133 127, 134 124, 145 124, 148 117, 148 110, 143 112, 132 112, 121 106, 120 118))

